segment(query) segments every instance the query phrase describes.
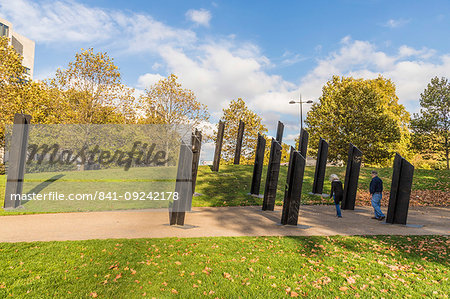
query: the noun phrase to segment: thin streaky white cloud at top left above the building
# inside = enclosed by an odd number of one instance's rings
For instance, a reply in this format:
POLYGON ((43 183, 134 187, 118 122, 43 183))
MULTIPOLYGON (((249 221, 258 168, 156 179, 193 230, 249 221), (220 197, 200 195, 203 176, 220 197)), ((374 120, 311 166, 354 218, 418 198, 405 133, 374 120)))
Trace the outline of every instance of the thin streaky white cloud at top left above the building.
POLYGON ((0 14, 14 29, 38 43, 107 43, 132 51, 161 43, 185 45, 193 31, 177 29, 151 16, 89 7, 75 1, 0 0, 0 14))

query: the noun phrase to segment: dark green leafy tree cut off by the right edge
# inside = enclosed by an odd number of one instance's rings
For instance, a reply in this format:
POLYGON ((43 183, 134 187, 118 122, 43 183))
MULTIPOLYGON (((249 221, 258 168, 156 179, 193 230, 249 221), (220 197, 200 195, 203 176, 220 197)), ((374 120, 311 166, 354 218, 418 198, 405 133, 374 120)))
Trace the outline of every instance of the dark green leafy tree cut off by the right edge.
POLYGON ((412 145, 425 155, 445 157, 449 169, 450 83, 434 77, 420 94, 420 113, 411 121, 412 145))

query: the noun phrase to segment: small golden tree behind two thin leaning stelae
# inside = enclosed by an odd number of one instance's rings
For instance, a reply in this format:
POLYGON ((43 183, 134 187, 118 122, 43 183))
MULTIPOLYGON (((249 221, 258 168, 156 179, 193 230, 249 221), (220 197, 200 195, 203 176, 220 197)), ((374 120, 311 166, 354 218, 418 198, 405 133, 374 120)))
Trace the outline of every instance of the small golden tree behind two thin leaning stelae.
POLYGON ((262 124, 261 117, 248 109, 244 100, 238 98, 237 100, 232 100, 228 108, 223 109, 223 116, 220 120, 225 122, 222 145, 222 159, 224 162, 230 163, 234 160, 239 121, 242 120, 245 123, 245 130, 240 163, 252 164, 258 142, 258 133, 263 134, 267 132, 267 128, 262 124))

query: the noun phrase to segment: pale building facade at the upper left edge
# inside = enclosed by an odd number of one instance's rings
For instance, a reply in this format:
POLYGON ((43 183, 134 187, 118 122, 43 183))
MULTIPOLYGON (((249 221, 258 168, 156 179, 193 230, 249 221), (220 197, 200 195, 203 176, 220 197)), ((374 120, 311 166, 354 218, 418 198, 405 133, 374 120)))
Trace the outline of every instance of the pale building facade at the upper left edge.
POLYGON ((33 79, 34 41, 15 32, 13 25, 2 18, 0 18, 0 36, 9 38, 9 42, 14 50, 23 57, 22 65, 25 67, 28 78, 33 79))

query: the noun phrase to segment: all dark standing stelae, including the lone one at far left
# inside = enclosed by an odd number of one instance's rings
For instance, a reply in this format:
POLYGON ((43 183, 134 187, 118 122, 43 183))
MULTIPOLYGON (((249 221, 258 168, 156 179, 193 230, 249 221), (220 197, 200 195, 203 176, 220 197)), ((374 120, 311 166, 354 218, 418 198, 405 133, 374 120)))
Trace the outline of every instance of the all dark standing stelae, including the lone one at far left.
MULTIPOLYGON (((16 208, 20 201, 12 200, 10 194, 21 194, 25 172, 25 159, 28 141, 27 125, 31 121, 30 115, 16 114, 14 117, 13 132, 11 138, 10 156, 8 164, 8 177, 5 190, 4 207, 16 208)), ((242 140, 244 137, 245 123, 239 122, 236 140, 234 164, 239 164, 242 140)), ((214 152, 213 171, 219 170, 220 156, 223 143, 225 123, 220 121, 214 152)), ((266 184, 262 209, 273 211, 275 208, 278 177, 280 173, 280 161, 282 150, 284 125, 278 122, 276 138, 272 138, 270 146, 269 164, 267 167, 266 184)), ((306 152, 309 134, 302 129, 300 133, 299 147, 295 150, 291 147, 281 223, 297 225, 300 208, 303 177, 306 165, 306 152)), ((202 134, 195 129, 192 133, 191 145, 182 143, 180 146, 179 163, 175 192, 178 192, 179 200, 174 201, 170 208, 170 224, 184 225, 185 212, 191 210, 192 196, 195 192, 197 171, 200 159, 202 134)), ((259 196, 261 176, 264 163, 264 151, 266 140, 258 134, 258 142, 255 152, 252 183, 250 193, 259 196)), ((313 194, 322 195, 325 180, 325 170, 328 156, 328 143, 320 138, 316 168, 314 173, 313 194)), ((342 209, 354 210, 358 178, 361 168, 362 152, 353 144, 350 144, 347 159, 347 169, 344 181, 344 198, 342 209)), ((414 167, 399 154, 394 159, 391 191, 386 222, 406 224, 408 215, 409 198, 411 194, 414 167)))

